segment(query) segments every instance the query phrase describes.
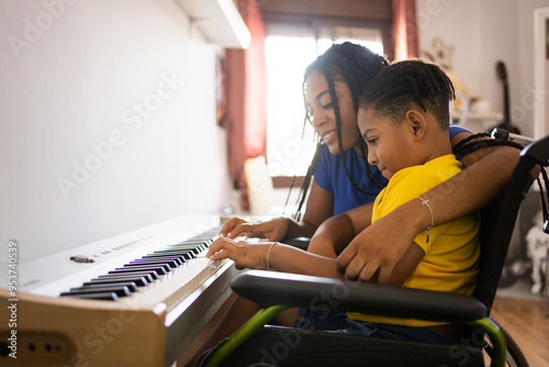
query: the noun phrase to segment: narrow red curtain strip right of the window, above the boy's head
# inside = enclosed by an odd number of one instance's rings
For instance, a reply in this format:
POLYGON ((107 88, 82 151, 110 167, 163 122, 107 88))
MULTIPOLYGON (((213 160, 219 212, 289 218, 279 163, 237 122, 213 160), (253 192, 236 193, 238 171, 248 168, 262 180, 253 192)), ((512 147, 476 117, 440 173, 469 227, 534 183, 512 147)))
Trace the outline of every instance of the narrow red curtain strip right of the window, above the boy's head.
POLYGON ((419 56, 415 0, 392 0, 394 59, 419 56))

